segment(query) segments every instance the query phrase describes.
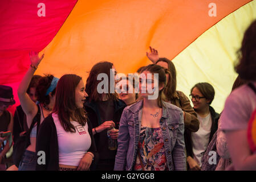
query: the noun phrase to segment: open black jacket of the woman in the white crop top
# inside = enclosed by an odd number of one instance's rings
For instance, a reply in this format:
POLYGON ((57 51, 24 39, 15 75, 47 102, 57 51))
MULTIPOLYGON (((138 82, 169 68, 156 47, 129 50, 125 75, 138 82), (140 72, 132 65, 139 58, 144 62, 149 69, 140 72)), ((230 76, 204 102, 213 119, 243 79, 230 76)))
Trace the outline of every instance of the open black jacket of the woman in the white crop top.
MULTIPOLYGON (((92 135, 91 122, 88 121, 88 132, 91 136, 91 147, 88 152, 92 152, 95 158, 92 161, 90 169, 94 168, 95 161, 97 160, 97 151, 94 142, 94 137, 92 135)), ((38 151, 44 151, 46 154, 46 164, 39 165, 36 163, 36 171, 58 171, 59 170, 59 145, 57 130, 52 118, 52 114, 48 115, 41 123, 39 127, 39 133, 36 138, 36 154, 38 151)), ((40 156, 37 156, 38 158, 40 156)), ((36 160, 37 161, 37 160, 36 160)))

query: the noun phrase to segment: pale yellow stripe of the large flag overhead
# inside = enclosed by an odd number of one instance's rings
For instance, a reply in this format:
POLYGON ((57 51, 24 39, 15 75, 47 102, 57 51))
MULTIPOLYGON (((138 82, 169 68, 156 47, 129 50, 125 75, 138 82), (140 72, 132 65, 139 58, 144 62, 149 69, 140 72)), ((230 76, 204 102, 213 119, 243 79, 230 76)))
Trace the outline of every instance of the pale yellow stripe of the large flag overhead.
POLYGON ((227 15, 174 57, 177 90, 188 96, 197 82, 209 82, 216 92, 212 106, 220 113, 237 77, 236 52, 246 28, 255 18, 256 0, 227 15))

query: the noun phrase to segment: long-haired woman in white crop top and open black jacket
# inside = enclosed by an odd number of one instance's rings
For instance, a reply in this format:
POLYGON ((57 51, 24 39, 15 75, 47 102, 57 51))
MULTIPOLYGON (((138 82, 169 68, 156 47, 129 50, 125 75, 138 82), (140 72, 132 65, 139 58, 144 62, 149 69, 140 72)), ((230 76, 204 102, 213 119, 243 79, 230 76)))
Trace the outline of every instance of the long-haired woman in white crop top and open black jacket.
POLYGON ((80 76, 63 75, 60 78, 55 107, 41 124, 36 142, 36 152, 46 153, 46 164, 36 164, 36 170, 90 168, 96 150, 92 150, 95 148, 92 129, 83 109, 87 96, 80 76))

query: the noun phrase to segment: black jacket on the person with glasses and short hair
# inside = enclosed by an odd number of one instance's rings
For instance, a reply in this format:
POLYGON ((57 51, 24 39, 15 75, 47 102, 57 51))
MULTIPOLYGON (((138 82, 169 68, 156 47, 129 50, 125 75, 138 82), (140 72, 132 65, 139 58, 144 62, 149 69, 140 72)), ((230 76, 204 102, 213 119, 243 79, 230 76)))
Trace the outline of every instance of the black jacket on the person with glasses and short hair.
MULTIPOLYGON (((209 106, 210 110, 210 115, 212 117, 212 127, 210 131, 210 138, 209 138, 209 143, 213 138, 214 133, 218 129, 218 119, 220 118, 220 114, 216 113, 216 111, 213 109, 212 106, 209 106)), ((186 155, 191 156, 193 158, 193 149, 192 149, 192 139, 191 139, 191 131, 186 130, 184 131, 184 139, 186 140, 186 155)), ((188 166, 189 167, 189 166, 188 166)))

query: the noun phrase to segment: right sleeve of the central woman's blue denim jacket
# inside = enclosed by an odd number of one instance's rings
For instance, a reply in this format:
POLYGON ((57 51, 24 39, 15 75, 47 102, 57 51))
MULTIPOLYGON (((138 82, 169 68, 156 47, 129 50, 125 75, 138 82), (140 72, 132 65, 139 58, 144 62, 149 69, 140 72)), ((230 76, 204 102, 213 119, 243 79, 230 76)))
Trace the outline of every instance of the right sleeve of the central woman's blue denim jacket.
POLYGON ((180 113, 180 123, 177 129, 177 139, 172 150, 172 158, 174 163, 174 171, 186 170, 186 154, 184 142, 184 117, 183 112, 180 113))

